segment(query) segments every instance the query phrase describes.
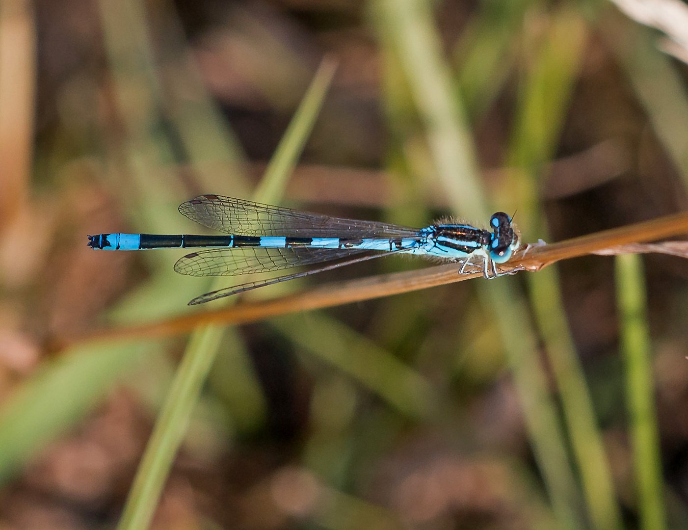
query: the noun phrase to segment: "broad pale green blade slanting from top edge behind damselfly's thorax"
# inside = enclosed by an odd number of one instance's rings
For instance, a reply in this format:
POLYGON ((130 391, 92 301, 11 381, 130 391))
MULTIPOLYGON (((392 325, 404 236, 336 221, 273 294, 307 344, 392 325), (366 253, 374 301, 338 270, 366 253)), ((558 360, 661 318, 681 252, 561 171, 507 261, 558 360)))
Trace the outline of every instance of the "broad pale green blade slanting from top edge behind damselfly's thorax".
MULTIPOLYGON (((380 32, 402 64, 424 120, 438 176, 453 212, 475 220, 485 219, 489 209, 478 178, 471 134, 455 97, 451 71, 442 57, 442 46, 427 3, 378 0, 375 6, 373 15, 377 17, 380 32)), ((582 528, 584 524, 577 512, 579 492, 568 462, 559 414, 538 359, 535 332, 522 316, 527 314, 524 304, 506 282, 487 282, 480 288, 502 332, 502 343, 552 507, 563 527, 582 528)))

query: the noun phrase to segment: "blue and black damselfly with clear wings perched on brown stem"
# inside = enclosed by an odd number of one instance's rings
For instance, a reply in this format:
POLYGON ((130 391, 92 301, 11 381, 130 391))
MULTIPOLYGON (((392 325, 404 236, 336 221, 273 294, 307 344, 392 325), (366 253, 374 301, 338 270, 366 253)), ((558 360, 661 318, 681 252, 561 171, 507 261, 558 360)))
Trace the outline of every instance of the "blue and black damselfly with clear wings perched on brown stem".
POLYGON ((316 265, 308 271, 249 282, 201 295, 189 305, 244 293, 344 265, 389 254, 416 254, 460 264, 459 274, 482 271, 495 278, 496 264, 510 259, 519 246, 511 218, 497 212, 490 218, 491 231, 469 224, 438 222, 424 229, 375 221, 358 221, 268 206, 248 200, 200 195, 182 203, 187 218, 228 235, 89 235, 91 248, 133 251, 146 248, 208 248, 187 254, 175 271, 191 276, 222 276, 264 273, 316 265), (323 262, 342 261, 323 266, 323 262))

